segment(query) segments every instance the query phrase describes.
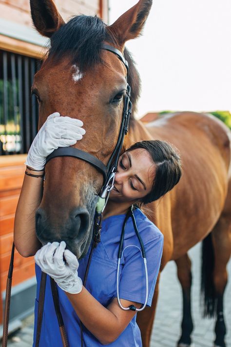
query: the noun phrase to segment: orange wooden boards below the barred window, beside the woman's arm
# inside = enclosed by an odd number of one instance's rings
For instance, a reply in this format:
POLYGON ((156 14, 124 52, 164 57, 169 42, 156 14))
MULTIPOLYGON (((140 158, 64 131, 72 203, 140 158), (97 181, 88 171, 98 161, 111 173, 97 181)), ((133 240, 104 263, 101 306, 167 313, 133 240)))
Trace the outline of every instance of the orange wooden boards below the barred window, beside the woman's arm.
MULTIPOLYGON (((13 243, 14 216, 24 177, 26 155, 0 158, 0 289, 5 290, 13 243)), ((35 276, 34 258, 15 251, 13 286, 35 276)), ((1 311, 1 300, 0 300, 1 311)), ((0 323, 1 323, 0 314, 0 323)))

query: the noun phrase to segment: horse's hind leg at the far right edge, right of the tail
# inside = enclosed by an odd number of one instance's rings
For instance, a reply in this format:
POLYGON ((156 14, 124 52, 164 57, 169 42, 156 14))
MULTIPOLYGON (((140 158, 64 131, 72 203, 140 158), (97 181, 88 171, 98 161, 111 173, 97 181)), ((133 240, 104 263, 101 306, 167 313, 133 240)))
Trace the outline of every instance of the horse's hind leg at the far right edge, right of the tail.
POLYGON ((216 295, 215 324, 216 338, 214 346, 225 347, 226 325, 223 312, 224 291, 228 281, 226 265, 231 256, 231 213, 221 215, 219 221, 212 230, 212 244, 214 249, 214 272, 213 282, 216 295))

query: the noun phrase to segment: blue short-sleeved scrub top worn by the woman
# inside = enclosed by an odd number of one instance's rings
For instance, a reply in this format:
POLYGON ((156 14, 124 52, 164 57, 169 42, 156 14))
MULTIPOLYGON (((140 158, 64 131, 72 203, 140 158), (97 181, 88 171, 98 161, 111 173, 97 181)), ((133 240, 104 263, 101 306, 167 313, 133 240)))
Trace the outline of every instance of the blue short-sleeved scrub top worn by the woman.
MULTIPOLYGON (((151 306, 154 295, 154 287, 159 272, 160 260, 163 250, 163 235, 160 230, 139 210, 134 211, 135 221, 142 238, 147 259, 149 297, 148 306, 151 306)), ((102 221, 101 242, 94 250, 87 278, 86 288, 103 306, 107 307, 116 297, 116 271, 120 234, 125 215, 111 216, 102 221)), ((128 245, 136 245, 140 248, 135 235, 132 219, 129 218, 125 230, 123 249, 128 245)), ((83 280, 87 266, 90 249, 87 255, 79 261, 78 275, 83 280)), ((35 329, 34 344, 36 339, 39 286, 41 269, 36 265, 37 299, 35 301, 35 329)), ((146 294, 144 262, 140 250, 135 246, 125 249, 121 259, 119 273, 119 297, 137 303, 144 304, 146 294)), ((58 287, 60 310, 62 313, 68 342, 70 347, 81 346, 79 319, 68 300, 65 292, 58 287)), ((140 330, 135 322, 136 315, 116 339, 111 347, 141 347, 140 330)), ((98 347, 101 343, 83 328, 84 346, 98 347)), ((109 345, 108 345, 109 346, 109 345)), ((39 347, 63 347, 58 320, 55 313, 50 277, 47 276, 45 302, 42 319, 41 337, 39 347)))

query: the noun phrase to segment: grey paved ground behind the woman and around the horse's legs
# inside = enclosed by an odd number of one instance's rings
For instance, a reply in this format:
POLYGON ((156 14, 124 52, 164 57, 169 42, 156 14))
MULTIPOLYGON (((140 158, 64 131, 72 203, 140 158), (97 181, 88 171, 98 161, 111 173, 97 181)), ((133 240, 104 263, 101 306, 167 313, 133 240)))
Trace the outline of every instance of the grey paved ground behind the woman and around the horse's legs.
MULTIPOLYGON (((193 343, 194 347, 213 347, 214 320, 202 319, 200 313, 200 247, 201 245, 196 245, 189 252, 193 263, 193 343)), ((228 270, 231 277, 231 260, 228 270)), ((175 263, 170 262, 161 276, 151 347, 176 346, 180 336, 181 311, 181 287, 176 277, 175 263)), ((226 343, 227 347, 231 347, 231 280, 225 294, 225 320, 228 329, 226 343)), ((24 320, 22 329, 9 339, 8 347, 31 347, 33 343, 33 323, 33 316, 24 320)))

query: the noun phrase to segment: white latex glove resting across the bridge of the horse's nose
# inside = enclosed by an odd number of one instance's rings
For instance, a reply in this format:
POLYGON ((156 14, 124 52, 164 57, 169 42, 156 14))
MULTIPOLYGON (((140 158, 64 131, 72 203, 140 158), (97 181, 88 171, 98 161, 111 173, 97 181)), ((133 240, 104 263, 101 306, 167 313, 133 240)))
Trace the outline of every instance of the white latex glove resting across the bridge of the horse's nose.
POLYGON ((60 117, 58 112, 50 115, 39 129, 30 149, 25 164, 35 170, 43 170, 46 157, 58 147, 69 147, 81 140, 85 130, 83 122, 60 117))

